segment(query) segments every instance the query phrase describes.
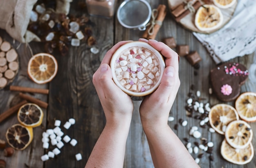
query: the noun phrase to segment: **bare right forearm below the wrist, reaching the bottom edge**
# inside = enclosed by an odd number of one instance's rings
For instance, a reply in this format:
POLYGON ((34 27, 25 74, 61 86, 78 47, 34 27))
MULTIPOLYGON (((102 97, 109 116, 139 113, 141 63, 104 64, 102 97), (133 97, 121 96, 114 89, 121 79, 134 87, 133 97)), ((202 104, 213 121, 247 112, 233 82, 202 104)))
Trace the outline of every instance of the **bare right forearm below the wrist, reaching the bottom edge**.
POLYGON ((159 129, 144 128, 144 131, 155 168, 199 168, 168 125, 159 129))

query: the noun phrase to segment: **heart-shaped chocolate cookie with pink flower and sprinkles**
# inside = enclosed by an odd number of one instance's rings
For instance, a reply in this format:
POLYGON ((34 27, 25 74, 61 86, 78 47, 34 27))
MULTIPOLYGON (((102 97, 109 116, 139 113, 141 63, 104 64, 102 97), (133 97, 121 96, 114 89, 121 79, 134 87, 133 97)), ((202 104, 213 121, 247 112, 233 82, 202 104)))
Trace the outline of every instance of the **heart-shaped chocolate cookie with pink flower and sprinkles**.
POLYGON ((240 63, 224 63, 211 70, 211 85, 219 100, 235 100, 240 94, 240 86, 248 78, 247 68, 240 63))

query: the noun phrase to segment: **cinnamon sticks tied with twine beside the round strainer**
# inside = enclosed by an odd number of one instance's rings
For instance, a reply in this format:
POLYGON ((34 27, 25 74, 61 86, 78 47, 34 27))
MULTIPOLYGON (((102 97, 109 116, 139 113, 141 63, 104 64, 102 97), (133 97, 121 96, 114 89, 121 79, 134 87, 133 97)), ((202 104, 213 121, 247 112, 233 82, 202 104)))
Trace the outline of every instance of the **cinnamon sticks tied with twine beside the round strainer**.
MULTIPOLYGON (((164 4, 159 4, 159 6, 157 7, 157 11, 158 11, 158 15, 157 15, 156 21, 163 22, 164 18, 166 16, 166 6, 164 4)), ((145 38, 145 39, 155 39, 155 37, 157 36, 157 33, 158 33, 159 29, 161 28, 161 26, 162 25, 155 24, 154 27, 153 27, 153 34, 152 35, 148 34, 148 30, 150 28, 150 26, 148 26, 146 28, 146 31, 143 33, 142 37, 145 38)))

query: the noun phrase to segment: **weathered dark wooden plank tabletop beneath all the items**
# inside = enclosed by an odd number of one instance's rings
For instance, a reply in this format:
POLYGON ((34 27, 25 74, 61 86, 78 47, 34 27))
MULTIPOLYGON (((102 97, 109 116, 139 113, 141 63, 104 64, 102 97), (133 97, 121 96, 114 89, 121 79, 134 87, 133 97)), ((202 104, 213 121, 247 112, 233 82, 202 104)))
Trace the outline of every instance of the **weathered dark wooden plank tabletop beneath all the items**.
MULTIPOLYGON (((119 0, 117 5, 121 3, 119 0)), ((152 9, 157 8, 159 4, 165 4, 168 6, 166 0, 147 0, 150 3, 152 9)), ((73 14, 87 13, 86 10, 76 10, 78 6, 78 0, 74 0, 71 3, 71 11, 73 14)), ((56 77, 47 84, 39 85, 32 82, 27 75, 27 64, 31 58, 31 52, 25 44, 22 44, 18 49, 20 69, 18 75, 11 85, 35 87, 35 88, 47 88, 49 89, 49 95, 33 94, 35 98, 43 100, 49 103, 47 109, 43 109, 45 116, 43 118, 43 124, 40 127, 34 128, 34 139, 31 144, 23 151, 15 151, 12 157, 4 157, 2 151, 0 151, 0 159, 7 161, 7 168, 82 168, 85 166, 86 161, 96 143, 103 127, 106 123, 106 119, 101 107, 101 103, 97 96, 97 93, 92 84, 92 75, 97 70, 101 63, 102 57, 105 53, 121 40, 138 40, 142 36, 143 32, 139 30, 132 30, 121 26, 116 18, 103 19, 99 17, 90 17, 90 20, 94 23, 93 35, 97 39, 96 47, 99 48, 98 54, 92 54, 90 47, 82 43, 79 47, 70 47, 69 53, 66 56, 61 56, 58 51, 53 55, 58 61, 58 72, 56 77), (72 125, 70 129, 63 128, 63 124, 69 119, 74 118, 76 124, 72 125), (54 159, 48 161, 41 161, 40 157, 46 154, 54 147, 50 145, 48 150, 43 149, 42 133, 46 129, 54 128, 54 120, 61 120, 63 129, 66 135, 74 138, 78 141, 76 146, 65 144, 61 148, 61 153, 54 159), (81 153, 83 159, 76 161, 75 155, 81 153)), ((13 43, 13 39, 4 31, 0 30, 0 36, 3 39, 11 42, 13 47, 17 47, 19 43, 16 41, 13 43)), ((195 85, 195 89, 201 92, 201 97, 205 98, 205 102, 209 102, 211 106, 218 103, 222 103, 216 99, 213 94, 210 95, 208 90, 209 84, 209 72, 212 68, 216 67, 213 59, 209 56, 207 50, 200 44, 200 42, 193 36, 193 34, 177 24, 172 18, 170 11, 167 10, 166 18, 163 25, 157 34, 156 40, 162 41, 166 37, 174 37, 177 45, 189 45, 190 51, 198 51, 202 57, 200 62, 200 69, 195 70, 184 57, 180 58, 180 89, 177 94, 175 103, 170 111, 170 116, 175 118, 174 121, 168 122, 170 127, 180 137, 182 142, 184 137, 189 138, 192 142, 199 142, 200 139, 195 139, 189 135, 189 129, 192 126, 199 127, 199 121, 194 118, 186 116, 185 105, 188 93, 191 91, 191 85, 195 85), (186 127, 182 127, 179 124, 179 119, 188 121, 186 127), (178 124, 177 130, 174 129, 174 125, 178 124)), ((29 44, 34 54, 39 52, 45 52, 44 46, 38 42, 31 42, 29 44)), ((232 59, 243 63, 248 69, 252 65, 256 64, 256 57, 254 53, 232 59)), ((250 73, 249 79, 241 87, 241 92, 256 92, 256 83, 250 81, 255 79, 256 73, 250 73)), ((7 89, 0 90, 0 113, 3 113, 15 104, 14 98, 17 97, 18 92, 9 91, 7 89)), ((27 94, 27 93, 26 93, 27 94)), ((146 136, 141 127, 139 118, 139 105, 140 101, 134 101, 135 110, 133 113, 132 123, 128 140, 126 144, 126 155, 124 161, 124 168, 153 168, 153 163, 148 148, 146 136)), ((228 102, 229 105, 234 105, 234 102, 228 102)), ((0 123, 0 139, 5 140, 5 133, 11 125, 18 123, 17 116, 12 115, 8 119, 0 123)), ((256 131, 256 123, 250 123, 253 131, 256 131)), ((202 132, 202 137, 207 138, 209 141, 214 142, 213 161, 209 160, 210 154, 203 151, 203 157, 200 159, 200 167, 202 168, 254 168, 256 165, 256 157, 244 166, 231 164, 225 161, 220 155, 220 144, 224 139, 223 135, 218 133, 210 133, 208 126, 204 129, 199 127, 202 132)), ((256 138, 252 140, 254 150, 256 147, 256 138)), ((193 145, 194 146, 194 145, 193 145)), ((191 154, 193 158, 198 157, 198 154, 191 154)), ((185 158, 184 158, 185 159, 185 158)), ((113 165, 115 168, 115 165, 113 165)))

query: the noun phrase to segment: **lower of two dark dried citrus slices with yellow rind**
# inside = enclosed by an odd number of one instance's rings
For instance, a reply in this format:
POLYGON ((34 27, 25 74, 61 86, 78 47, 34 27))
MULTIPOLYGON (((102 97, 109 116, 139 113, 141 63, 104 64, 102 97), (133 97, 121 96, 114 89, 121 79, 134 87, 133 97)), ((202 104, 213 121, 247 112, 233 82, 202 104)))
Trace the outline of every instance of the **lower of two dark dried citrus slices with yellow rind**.
POLYGON ((14 124, 7 130, 6 139, 12 148, 23 150, 29 146, 33 139, 33 129, 21 124, 14 124))

